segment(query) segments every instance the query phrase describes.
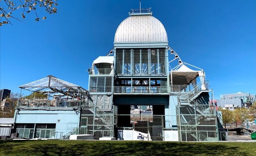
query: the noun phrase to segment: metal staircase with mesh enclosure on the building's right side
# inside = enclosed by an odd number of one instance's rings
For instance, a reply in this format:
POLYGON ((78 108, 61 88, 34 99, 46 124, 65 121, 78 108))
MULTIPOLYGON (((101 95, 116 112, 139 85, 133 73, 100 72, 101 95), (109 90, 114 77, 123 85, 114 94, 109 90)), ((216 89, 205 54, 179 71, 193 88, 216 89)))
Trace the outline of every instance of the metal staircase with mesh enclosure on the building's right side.
MULTIPOLYGON (((208 83, 207 83, 208 84, 208 83)), ((178 127, 181 141, 217 141, 217 118, 215 106, 200 97, 209 92, 206 82, 193 90, 180 94, 177 107, 178 127), (204 89, 202 90, 202 85, 204 89)))

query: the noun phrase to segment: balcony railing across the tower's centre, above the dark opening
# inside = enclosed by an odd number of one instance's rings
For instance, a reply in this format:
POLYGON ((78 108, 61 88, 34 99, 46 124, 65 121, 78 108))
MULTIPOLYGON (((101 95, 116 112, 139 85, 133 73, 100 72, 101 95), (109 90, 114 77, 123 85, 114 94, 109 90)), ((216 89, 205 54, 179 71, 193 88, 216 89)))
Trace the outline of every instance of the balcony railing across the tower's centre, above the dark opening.
POLYGON ((167 87, 149 87, 149 86, 115 86, 115 93, 167 93, 167 87))

